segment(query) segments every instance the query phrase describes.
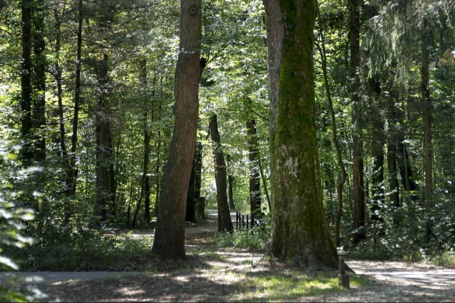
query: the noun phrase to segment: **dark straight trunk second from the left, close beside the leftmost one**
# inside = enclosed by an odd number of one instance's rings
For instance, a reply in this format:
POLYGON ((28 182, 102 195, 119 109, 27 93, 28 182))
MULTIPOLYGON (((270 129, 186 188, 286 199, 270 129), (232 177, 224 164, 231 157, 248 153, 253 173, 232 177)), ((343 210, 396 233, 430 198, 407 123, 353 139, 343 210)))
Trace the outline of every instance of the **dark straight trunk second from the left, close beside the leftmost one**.
POLYGON ((46 91, 46 55, 44 44, 43 0, 36 2, 33 20, 33 53, 34 53, 34 83, 36 97, 33 98, 33 127, 36 129, 34 158, 37 162, 46 160, 45 135, 45 91, 46 91))

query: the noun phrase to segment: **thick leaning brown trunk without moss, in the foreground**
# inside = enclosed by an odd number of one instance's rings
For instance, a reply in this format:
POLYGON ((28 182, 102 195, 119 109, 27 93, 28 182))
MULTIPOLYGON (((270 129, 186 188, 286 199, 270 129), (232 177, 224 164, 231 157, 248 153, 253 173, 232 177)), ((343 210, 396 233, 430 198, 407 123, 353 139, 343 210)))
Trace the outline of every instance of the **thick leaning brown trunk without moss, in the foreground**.
POLYGON ((181 0, 175 121, 152 248, 155 254, 172 259, 185 258, 186 201, 199 114, 201 23, 201 0, 181 0))

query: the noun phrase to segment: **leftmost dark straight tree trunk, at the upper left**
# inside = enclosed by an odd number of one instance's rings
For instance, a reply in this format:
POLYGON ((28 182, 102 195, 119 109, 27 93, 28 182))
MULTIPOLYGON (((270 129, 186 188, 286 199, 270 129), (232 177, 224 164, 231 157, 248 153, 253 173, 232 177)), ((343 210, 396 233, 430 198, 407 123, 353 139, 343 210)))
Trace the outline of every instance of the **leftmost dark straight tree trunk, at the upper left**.
POLYGON ((25 141, 22 149, 24 164, 31 164, 33 151, 30 146, 31 119, 31 1, 21 2, 22 23, 22 70, 21 70, 21 136, 25 141))

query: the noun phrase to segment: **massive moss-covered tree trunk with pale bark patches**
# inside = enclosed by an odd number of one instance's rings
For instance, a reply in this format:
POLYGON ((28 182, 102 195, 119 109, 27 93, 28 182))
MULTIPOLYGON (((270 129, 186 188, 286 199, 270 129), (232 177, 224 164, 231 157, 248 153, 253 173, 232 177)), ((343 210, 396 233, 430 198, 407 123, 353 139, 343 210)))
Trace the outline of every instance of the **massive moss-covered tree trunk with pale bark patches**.
POLYGON ((272 255, 336 268, 315 127, 315 0, 264 0, 270 85, 272 255))

